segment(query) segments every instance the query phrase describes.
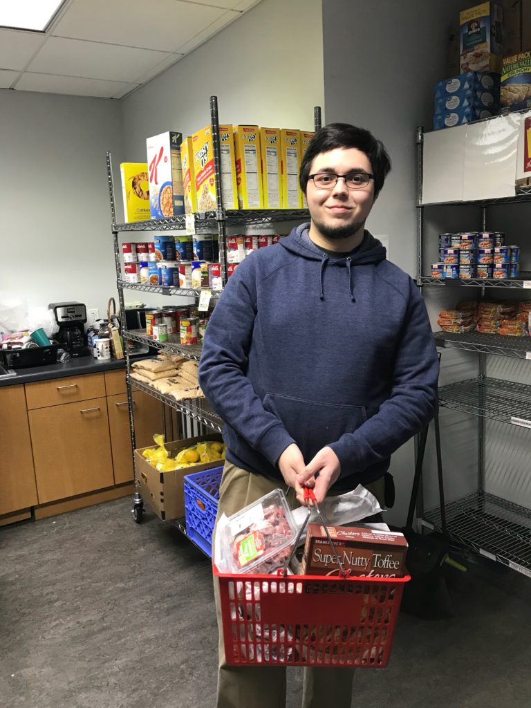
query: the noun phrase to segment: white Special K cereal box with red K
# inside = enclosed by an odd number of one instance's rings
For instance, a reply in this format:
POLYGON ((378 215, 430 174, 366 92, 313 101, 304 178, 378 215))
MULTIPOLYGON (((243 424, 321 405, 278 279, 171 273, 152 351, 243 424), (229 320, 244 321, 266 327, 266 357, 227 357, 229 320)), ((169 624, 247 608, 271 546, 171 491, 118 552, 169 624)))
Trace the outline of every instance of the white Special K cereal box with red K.
POLYGON ((146 141, 152 219, 184 214, 182 140, 182 133, 165 132, 146 141))

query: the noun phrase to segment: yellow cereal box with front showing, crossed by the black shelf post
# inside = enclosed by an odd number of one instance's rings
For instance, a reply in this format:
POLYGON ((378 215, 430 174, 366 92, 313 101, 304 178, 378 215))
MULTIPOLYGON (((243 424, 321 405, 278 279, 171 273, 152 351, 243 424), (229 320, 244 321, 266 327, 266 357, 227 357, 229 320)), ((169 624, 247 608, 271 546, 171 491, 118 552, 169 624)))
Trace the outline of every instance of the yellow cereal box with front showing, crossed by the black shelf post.
MULTIPOLYGON (((193 134, 192 151, 198 212, 213 211, 216 208, 217 202, 212 125, 207 125, 207 127, 193 134)), ((219 126, 219 152, 221 157, 223 207, 225 209, 237 209, 238 193, 236 190, 236 165, 234 163, 232 125, 219 126)))

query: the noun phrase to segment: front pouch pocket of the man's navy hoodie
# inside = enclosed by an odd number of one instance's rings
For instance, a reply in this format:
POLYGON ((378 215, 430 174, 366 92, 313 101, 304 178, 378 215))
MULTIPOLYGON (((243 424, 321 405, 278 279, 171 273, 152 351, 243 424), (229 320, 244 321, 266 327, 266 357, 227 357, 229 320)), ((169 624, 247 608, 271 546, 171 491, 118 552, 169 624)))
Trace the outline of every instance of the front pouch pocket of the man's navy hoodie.
POLYGON ((263 407, 280 418, 302 450, 305 462, 321 447, 336 442, 344 433, 353 433, 367 420, 365 406, 317 403, 273 393, 265 394, 263 407))

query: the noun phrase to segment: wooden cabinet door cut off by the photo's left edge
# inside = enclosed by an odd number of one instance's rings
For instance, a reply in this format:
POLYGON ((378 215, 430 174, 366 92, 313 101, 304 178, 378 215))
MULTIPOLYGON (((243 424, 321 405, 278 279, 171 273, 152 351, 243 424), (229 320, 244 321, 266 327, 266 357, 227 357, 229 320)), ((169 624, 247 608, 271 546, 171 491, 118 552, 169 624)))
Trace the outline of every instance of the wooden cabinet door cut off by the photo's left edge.
POLYGON ((24 387, 0 388, 0 516, 38 503, 24 387))

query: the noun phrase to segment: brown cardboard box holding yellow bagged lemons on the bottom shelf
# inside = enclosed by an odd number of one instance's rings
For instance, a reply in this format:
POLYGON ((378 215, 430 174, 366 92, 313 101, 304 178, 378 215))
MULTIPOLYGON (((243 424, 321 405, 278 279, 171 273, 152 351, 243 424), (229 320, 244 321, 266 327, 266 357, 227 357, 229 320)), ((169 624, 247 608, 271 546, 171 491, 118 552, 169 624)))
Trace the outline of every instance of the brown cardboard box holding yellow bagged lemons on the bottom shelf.
MULTIPOLYGON (((164 447, 166 447, 171 457, 175 457, 177 453, 185 447, 195 445, 196 442, 209 442, 211 440, 222 442, 222 436, 219 434, 201 435, 199 438, 187 438, 186 440, 165 442, 164 447)), ((148 447, 154 446, 148 445, 148 447)), ((183 478, 186 474, 202 472, 203 469, 219 467, 223 464, 222 461, 217 459, 215 462, 191 464, 190 467, 174 469, 171 472, 159 472, 156 467, 150 464, 149 460, 142 457, 144 450, 147 450, 147 447, 141 447, 139 450, 135 450, 137 489, 142 495, 142 498, 144 498, 144 501, 147 501, 149 507, 152 508, 156 515, 163 521, 181 518, 185 515, 183 478)))

